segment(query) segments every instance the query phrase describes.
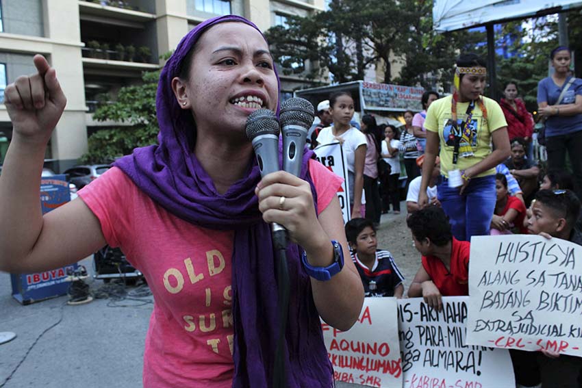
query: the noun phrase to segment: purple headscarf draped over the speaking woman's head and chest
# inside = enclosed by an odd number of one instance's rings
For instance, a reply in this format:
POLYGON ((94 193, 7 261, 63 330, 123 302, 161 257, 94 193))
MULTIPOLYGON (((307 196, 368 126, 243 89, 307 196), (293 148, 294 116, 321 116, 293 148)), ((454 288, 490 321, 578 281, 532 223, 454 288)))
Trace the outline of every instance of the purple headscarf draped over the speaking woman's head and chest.
MULTIPOLYGON (((160 124, 159 145, 136 148, 118 159, 121 168, 140 189, 175 216, 208 229, 235 230, 233 248, 233 387, 270 387, 277 344, 277 283, 270 229, 262 220, 255 196, 260 170, 255 157, 246 178, 218 194, 212 179, 193 153, 196 125, 189 110, 176 101, 171 81, 201 35, 213 25, 240 22, 240 16, 220 16, 192 29, 164 66, 157 87, 156 111, 160 124)), ((275 70, 275 75, 277 75, 275 70)), ((277 76, 279 84, 279 77, 277 76)), ((277 112, 279 105, 277 105, 277 112)), ((312 185, 303 155, 301 178, 312 185)), ((300 248, 287 252, 291 283, 286 333, 288 387, 330 387, 333 370, 327 359, 319 315, 313 302, 309 276, 299 260, 300 248)))

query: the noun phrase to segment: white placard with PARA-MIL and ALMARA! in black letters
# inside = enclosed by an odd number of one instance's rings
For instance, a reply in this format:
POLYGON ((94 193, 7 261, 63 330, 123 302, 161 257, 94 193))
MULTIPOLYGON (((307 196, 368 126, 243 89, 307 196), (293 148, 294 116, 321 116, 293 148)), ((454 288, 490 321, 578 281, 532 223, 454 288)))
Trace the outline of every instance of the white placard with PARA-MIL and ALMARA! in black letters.
POLYGON ((466 346, 468 296, 442 298, 442 311, 422 300, 398 300, 405 388, 514 387, 507 350, 466 346))

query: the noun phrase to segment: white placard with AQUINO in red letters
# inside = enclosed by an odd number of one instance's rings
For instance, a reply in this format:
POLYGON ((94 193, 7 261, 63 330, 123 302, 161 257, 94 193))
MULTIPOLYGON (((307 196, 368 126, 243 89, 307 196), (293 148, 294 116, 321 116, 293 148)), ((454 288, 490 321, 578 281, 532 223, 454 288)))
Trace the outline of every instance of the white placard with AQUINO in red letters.
POLYGON ((325 323, 322 331, 336 381, 402 387, 396 298, 364 298, 362 313, 349 331, 325 323))

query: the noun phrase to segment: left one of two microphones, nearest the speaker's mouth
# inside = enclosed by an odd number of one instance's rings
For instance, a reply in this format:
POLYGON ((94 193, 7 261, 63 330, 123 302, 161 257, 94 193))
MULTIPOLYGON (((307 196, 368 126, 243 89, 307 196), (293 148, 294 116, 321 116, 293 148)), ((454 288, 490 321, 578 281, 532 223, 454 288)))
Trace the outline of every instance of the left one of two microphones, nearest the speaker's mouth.
MULTIPOLYGON (((269 109, 257 109, 246 118, 246 137, 251 140, 261 177, 279 171, 279 120, 269 109)), ((273 222, 273 243, 277 249, 287 248, 287 231, 273 222)))

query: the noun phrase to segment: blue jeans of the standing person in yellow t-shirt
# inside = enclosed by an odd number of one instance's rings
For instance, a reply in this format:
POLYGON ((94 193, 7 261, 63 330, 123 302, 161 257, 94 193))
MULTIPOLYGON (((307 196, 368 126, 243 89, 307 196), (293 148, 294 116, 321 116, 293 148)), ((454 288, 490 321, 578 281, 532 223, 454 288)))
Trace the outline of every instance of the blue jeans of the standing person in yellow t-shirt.
POLYGON ((448 179, 441 177, 438 200, 457 240, 488 235, 497 200, 495 175, 471 179, 463 195, 459 195, 458 187, 448 187, 448 179))

